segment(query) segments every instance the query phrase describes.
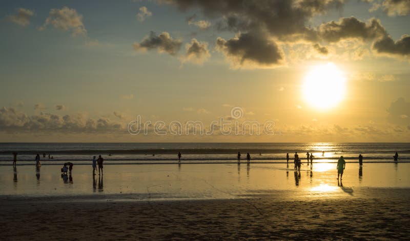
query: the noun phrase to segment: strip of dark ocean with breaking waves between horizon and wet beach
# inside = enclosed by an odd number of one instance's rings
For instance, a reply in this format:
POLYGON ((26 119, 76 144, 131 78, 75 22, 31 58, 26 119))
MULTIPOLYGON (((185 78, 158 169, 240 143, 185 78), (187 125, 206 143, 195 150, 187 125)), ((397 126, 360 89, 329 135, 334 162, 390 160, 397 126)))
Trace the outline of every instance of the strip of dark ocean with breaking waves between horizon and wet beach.
POLYGON ((364 162, 383 163, 392 162, 396 151, 399 162, 410 162, 410 143, 0 143, 0 165, 12 161, 12 152, 18 153, 17 164, 33 164, 39 153, 47 165, 89 164, 94 155, 103 156, 105 164, 175 163, 179 151, 181 161, 189 163, 234 163, 238 151, 244 161, 249 152, 253 163, 285 163, 286 153, 293 162, 295 152, 302 161, 309 152, 314 162, 334 163, 341 155, 358 162, 362 154, 364 162))

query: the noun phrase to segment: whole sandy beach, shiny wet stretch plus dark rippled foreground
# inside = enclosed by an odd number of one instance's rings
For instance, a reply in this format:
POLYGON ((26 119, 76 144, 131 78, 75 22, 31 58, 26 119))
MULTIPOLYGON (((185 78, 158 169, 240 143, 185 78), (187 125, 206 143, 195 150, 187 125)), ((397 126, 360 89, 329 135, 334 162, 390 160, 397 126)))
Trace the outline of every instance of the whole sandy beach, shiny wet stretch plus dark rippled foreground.
POLYGON ((343 184, 333 164, 112 165, 102 184, 0 167, 2 240, 406 239, 408 167, 347 165, 343 184))

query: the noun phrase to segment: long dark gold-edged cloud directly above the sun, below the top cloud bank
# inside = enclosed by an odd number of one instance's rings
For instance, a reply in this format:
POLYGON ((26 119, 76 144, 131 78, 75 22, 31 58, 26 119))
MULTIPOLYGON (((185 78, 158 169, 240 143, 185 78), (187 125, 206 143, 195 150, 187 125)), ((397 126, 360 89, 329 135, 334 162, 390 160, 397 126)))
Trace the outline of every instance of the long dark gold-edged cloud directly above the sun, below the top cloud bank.
POLYGON ((326 42, 339 42, 345 38, 359 38, 366 41, 386 35, 386 30, 375 18, 365 23, 356 17, 345 17, 338 22, 332 21, 320 25, 318 34, 326 42))

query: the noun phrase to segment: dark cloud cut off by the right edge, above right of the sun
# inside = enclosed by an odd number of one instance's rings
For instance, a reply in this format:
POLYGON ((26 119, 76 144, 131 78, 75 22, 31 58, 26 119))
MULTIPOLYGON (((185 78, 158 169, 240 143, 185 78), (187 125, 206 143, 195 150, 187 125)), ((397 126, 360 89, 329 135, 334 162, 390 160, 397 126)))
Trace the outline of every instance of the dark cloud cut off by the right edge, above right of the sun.
POLYGON ((373 44, 373 49, 379 54, 408 57, 410 56, 410 35, 403 35, 396 42, 391 36, 384 36, 373 44))

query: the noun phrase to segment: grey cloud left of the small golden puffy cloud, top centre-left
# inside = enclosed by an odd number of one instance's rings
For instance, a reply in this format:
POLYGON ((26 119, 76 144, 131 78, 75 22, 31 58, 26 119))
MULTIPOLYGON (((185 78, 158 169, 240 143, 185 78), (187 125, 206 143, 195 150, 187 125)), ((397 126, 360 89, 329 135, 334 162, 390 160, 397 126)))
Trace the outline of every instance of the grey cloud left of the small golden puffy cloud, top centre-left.
POLYGON ((158 53, 166 52, 170 55, 176 55, 181 45, 180 39, 173 39, 167 32, 162 32, 157 36, 155 32, 151 31, 150 36, 144 38, 141 43, 134 43, 134 49, 137 51, 157 49, 158 53))

